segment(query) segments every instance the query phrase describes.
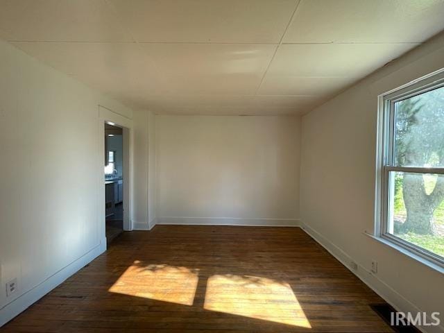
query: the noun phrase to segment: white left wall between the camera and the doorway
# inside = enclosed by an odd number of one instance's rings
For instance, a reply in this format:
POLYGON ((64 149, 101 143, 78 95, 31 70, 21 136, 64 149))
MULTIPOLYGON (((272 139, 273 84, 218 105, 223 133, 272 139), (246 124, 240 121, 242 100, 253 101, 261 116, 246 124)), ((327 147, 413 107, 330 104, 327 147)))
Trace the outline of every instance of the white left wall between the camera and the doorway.
POLYGON ((104 249, 98 105, 132 117, 0 41, 0 325, 104 249))

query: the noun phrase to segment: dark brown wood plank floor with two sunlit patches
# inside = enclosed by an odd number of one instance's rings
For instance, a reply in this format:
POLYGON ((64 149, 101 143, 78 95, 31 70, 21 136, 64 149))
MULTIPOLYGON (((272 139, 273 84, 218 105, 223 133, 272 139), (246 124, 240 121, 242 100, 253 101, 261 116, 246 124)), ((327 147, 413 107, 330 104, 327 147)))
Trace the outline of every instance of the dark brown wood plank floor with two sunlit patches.
POLYGON ((383 302, 299 228, 157 225, 0 332, 393 332, 383 302))

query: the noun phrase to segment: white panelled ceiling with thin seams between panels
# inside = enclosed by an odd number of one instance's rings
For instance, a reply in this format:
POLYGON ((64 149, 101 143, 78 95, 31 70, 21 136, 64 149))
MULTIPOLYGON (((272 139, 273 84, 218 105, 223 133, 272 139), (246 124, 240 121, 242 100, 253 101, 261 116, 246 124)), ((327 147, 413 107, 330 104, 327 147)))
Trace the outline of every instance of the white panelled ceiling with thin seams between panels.
POLYGON ((0 0, 0 36, 133 108, 302 114, 443 17, 444 0, 0 0))

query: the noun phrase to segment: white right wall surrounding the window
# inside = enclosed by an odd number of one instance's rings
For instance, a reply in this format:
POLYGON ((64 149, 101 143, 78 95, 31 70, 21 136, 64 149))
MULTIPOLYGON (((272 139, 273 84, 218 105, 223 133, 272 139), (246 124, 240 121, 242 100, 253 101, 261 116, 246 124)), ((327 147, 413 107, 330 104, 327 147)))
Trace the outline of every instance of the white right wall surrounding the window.
POLYGON ((303 117, 300 178, 309 232, 346 264, 357 262, 361 277, 386 300, 404 311, 441 311, 441 321, 444 275, 364 232, 374 227, 377 96, 443 67, 441 36, 303 117), (372 259, 376 275, 368 275, 372 259))

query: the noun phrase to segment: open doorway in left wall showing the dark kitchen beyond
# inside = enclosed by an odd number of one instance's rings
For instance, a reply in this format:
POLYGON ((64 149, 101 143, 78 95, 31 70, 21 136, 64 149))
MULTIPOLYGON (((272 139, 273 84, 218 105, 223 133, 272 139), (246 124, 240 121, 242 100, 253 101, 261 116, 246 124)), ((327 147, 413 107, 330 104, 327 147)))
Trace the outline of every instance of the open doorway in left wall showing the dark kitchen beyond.
POLYGON ((105 237, 109 245, 123 232, 123 128, 105 122, 104 141, 105 237))

